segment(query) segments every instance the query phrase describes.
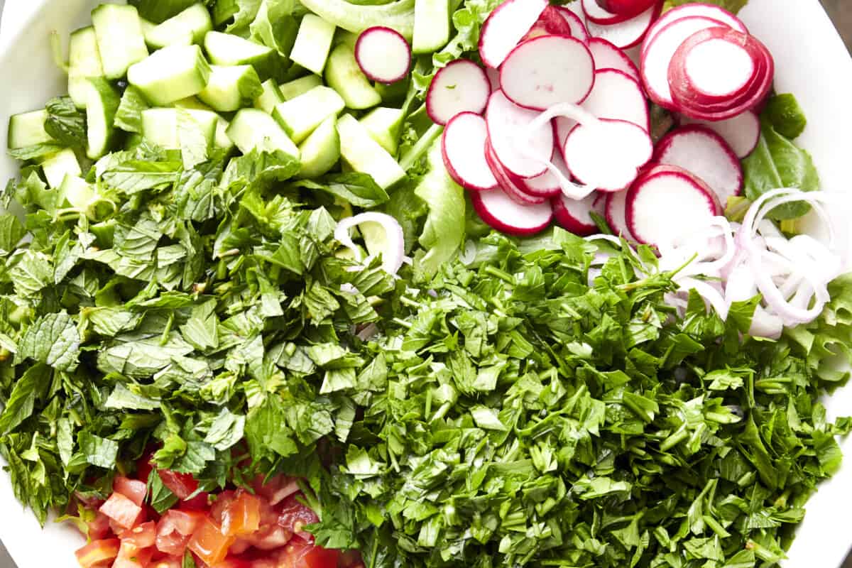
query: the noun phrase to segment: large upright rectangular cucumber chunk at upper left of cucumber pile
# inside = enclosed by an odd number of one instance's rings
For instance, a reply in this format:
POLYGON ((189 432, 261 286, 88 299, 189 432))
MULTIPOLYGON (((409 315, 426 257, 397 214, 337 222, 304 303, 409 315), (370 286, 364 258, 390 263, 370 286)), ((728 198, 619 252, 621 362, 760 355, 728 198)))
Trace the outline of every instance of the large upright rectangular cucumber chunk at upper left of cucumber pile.
POLYGON ((124 77, 131 65, 148 56, 141 20, 134 6, 101 4, 92 10, 92 25, 107 78, 124 77))

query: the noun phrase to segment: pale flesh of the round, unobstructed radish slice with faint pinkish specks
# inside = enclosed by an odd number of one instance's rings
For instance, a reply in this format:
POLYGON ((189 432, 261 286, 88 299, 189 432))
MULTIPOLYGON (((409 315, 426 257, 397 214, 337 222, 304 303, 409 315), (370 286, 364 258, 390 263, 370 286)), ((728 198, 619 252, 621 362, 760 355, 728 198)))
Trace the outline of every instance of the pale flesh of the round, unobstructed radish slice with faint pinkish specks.
POLYGON ((582 102, 594 84, 591 52, 574 37, 542 36, 521 43, 500 67, 500 86, 509 100, 537 110, 582 102))

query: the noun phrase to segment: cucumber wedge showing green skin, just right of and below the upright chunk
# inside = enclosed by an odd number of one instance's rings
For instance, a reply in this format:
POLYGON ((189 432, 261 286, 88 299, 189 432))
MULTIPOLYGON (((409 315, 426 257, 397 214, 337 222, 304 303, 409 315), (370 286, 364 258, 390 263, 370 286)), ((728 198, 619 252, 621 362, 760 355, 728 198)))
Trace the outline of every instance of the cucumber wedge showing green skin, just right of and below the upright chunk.
POLYGON ((127 80, 155 105, 170 105, 204 90, 210 66, 198 45, 172 45, 131 66, 127 80))

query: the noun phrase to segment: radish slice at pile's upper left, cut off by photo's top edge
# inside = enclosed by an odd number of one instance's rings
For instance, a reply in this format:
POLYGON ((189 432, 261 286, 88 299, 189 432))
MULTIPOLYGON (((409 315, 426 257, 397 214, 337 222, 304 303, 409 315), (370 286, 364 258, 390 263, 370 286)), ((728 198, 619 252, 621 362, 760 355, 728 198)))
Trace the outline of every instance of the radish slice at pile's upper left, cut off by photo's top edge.
POLYGON ((507 0, 482 25, 479 50, 482 62, 497 69, 547 8, 547 0, 507 0))

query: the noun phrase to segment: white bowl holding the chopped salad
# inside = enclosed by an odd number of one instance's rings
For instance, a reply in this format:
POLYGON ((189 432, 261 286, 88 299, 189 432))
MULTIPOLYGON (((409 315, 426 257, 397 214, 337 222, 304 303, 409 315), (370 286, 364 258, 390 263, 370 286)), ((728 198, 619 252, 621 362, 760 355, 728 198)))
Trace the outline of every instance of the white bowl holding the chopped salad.
MULTIPOLYGON (((0 32, 0 148, 6 147, 9 115, 30 111, 66 92, 65 76, 56 68, 49 32, 61 37, 89 25, 97 0, 8 0, 0 32)), ((852 169, 852 60, 831 20, 816 0, 751 0, 740 14, 751 32, 775 58, 775 87, 797 96, 808 117, 798 140, 814 156, 823 188, 845 192, 852 169)), ((15 175, 13 160, 0 157, 0 183, 15 175)), ((849 220, 843 220, 849 224, 849 220)), ((852 249, 850 249, 852 250, 852 249)), ((852 260, 850 258, 849 260, 852 260)), ((830 417, 852 416, 852 387, 826 400, 830 417)), ((852 438, 843 441, 852 456, 852 438)), ((834 568, 852 546, 847 518, 852 511, 852 457, 809 501, 785 568, 834 568)), ((73 551, 83 545, 67 525, 44 530, 14 499, 9 475, 0 473, 0 540, 19 568, 75 568, 73 551)))

